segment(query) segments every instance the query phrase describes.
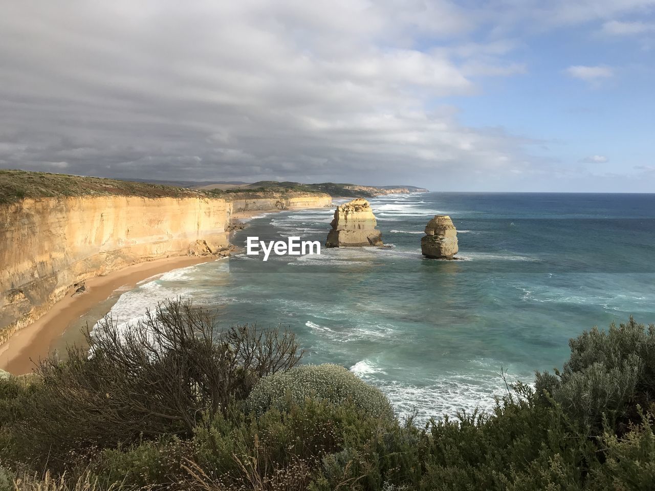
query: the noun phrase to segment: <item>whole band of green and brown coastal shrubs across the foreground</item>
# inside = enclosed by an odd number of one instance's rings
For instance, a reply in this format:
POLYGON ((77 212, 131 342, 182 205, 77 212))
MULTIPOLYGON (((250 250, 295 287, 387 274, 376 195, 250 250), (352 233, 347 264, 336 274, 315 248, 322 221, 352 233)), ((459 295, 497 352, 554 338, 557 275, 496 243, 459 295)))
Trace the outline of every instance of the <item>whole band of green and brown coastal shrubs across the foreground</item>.
POLYGON ((0 491, 652 490, 655 327, 571 340, 488 414, 417 424, 293 335, 166 302, 0 380, 0 491), (14 485, 14 482, 17 483, 14 485))

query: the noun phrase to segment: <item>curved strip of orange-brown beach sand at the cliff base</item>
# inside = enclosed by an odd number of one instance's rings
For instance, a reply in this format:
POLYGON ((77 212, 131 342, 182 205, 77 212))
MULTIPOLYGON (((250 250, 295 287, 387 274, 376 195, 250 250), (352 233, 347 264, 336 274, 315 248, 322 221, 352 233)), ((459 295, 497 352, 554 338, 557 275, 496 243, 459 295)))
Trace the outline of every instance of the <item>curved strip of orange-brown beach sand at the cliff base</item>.
MULTIPOLYGON (((214 260, 214 257, 168 257, 134 264, 106 276, 86 280, 84 282, 86 291, 83 294, 73 296, 74 290, 69 291, 45 316, 20 329, 0 346, 0 368, 14 375, 30 373, 35 367, 35 362, 48 355, 56 340, 64 335, 71 323, 102 304, 115 291, 124 293, 152 276, 214 260)), ((107 314, 113 303, 105 302, 104 305, 105 310, 95 312, 96 319, 107 314)))

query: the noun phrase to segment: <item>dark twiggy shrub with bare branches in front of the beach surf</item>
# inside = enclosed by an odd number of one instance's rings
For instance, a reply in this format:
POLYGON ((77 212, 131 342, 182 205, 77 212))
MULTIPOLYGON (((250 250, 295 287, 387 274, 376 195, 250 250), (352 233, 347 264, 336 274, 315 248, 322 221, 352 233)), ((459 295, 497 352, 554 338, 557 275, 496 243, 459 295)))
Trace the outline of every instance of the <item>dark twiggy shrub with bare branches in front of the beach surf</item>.
POLYGON ((245 399, 259 378, 303 355, 286 331, 219 331, 210 312, 181 300, 124 328, 106 318, 86 340, 91 356, 69 348, 67 361, 50 357, 37 370, 45 393, 24 427, 33 451, 53 466, 70 462, 71 450, 87 458, 92 448, 141 438, 190 437, 202 414, 245 399))

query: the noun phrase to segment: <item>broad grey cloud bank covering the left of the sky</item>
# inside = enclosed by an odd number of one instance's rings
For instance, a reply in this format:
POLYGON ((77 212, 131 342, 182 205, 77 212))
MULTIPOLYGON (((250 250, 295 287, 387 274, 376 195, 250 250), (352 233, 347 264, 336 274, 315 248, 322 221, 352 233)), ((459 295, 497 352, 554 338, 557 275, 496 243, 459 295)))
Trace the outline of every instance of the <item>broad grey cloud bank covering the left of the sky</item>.
POLYGON ((531 141, 426 109, 474 94, 469 77, 525 71, 505 58, 511 39, 414 46, 489 16, 447 1, 6 1, 0 165, 380 184, 439 173, 428 185, 534 172, 547 163, 526 155, 531 141))

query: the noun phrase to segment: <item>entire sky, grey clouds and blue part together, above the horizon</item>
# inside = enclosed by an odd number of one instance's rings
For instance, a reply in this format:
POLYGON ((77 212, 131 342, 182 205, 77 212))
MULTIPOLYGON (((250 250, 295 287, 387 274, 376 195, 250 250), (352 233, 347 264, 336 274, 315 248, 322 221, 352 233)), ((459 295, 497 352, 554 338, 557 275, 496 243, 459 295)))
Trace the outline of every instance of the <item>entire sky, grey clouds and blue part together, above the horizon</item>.
POLYGON ((0 9, 0 168, 655 191, 655 0, 0 9))

